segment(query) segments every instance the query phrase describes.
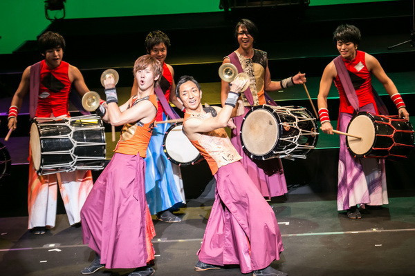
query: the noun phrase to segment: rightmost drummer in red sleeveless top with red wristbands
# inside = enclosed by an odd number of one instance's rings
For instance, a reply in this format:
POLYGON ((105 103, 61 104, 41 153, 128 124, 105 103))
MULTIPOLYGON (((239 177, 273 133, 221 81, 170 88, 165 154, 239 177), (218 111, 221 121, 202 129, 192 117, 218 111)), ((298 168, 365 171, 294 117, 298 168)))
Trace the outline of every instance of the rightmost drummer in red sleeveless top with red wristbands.
MULTIPOLYGON (((390 95, 400 117, 409 119, 405 103, 393 81, 387 77, 379 61, 358 50, 360 30, 353 25, 340 25, 333 33, 333 39, 340 56, 333 59, 324 69, 317 97, 321 129, 333 134, 327 97, 332 81, 338 88, 340 112, 338 129, 346 132, 351 117, 358 111, 384 114, 385 105, 380 101, 372 83, 373 74, 390 95), (349 89, 345 89, 349 87, 349 89), (351 104, 353 103, 353 105, 351 104)), ((360 210, 365 204, 380 206, 388 204, 385 176, 385 162, 374 158, 353 157, 347 150, 346 138, 340 136, 338 210, 346 210, 350 219, 360 219, 360 210), (358 208, 360 206, 360 210, 358 208)))

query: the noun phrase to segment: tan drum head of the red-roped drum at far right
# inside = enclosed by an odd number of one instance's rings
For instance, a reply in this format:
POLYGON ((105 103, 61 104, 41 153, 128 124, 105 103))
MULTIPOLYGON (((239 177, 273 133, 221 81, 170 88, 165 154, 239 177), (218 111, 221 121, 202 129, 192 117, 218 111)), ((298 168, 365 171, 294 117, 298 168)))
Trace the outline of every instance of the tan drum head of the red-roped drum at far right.
POLYGON ((346 137, 349 150, 354 155, 366 155, 374 145, 376 135, 374 122, 366 114, 357 115, 351 119, 347 133, 362 137, 362 139, 346 137))

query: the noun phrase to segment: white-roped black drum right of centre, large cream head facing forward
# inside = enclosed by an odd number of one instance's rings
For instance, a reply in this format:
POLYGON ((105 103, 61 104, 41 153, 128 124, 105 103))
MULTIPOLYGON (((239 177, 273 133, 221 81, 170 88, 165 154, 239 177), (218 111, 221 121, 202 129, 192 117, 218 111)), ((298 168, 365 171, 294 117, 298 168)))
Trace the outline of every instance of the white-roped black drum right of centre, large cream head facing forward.
POLYGON ((317 139, 315 117, 300 106, 254 106, 241 126, 243 150, 256 160, 304 159, 317 139))

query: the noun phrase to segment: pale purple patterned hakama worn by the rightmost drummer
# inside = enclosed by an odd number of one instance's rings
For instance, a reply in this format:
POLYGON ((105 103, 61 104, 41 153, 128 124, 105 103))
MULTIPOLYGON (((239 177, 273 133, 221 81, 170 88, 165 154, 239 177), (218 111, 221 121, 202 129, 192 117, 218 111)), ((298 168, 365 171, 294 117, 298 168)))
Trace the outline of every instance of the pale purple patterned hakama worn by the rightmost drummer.
MULTIPOLYGON (((373 104, 363 106, 360 111, 376 113, 373 104)), ((340 131, 347 131, 352 117, 351 114, 340 112, 340 131)), ((385 161, 353 157, 347 149, 344 135, 340 135, 338 170, 338 210, 347 210, 357 204, 388 204, 385 161)))

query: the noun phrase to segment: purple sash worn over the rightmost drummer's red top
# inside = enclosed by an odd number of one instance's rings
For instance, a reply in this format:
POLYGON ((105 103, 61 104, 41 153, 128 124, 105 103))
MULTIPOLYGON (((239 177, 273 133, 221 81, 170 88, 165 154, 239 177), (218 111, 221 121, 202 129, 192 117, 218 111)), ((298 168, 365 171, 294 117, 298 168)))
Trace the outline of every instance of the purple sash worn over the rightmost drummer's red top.
MULTIPOLYGON (((358 95, 356 95, 356 90, 353 87, 353 83, 351 82, 349 71, 344 65, 342 57, 341 56, 336 57, 335 59, 333 59, 333 62, 335 65, 335 70, 337 70, 338 72, 340 82, 342 83, 342 86, 344 88, 344 92, 346 93, 347 100, 349 101, 351 106, 353 106, 353 109, 356 112, 358 112, 360 110, 358 95)), ((389 112, 387 111, 385 103, 383 103, 382 99, 380 99, 378 93, 373 88, 373 86, 372 86, 372 91, 374 93, 374 99, 376 102, 376 106, 378 107, 378 111, 382 115, 388 115, 389 112)))

